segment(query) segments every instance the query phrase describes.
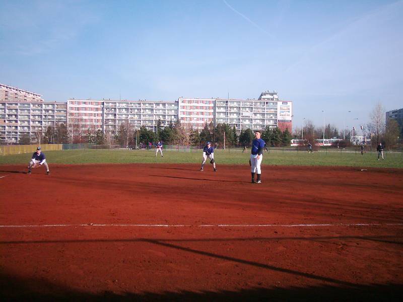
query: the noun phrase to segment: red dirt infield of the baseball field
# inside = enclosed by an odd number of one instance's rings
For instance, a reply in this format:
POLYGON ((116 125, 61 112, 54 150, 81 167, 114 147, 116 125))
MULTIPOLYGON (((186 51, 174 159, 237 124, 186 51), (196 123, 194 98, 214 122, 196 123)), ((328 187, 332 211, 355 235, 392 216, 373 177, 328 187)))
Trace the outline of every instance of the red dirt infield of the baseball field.
POLYGON ((402 297, 402 169, 49 168, 0 166, 2 297, 402 297))

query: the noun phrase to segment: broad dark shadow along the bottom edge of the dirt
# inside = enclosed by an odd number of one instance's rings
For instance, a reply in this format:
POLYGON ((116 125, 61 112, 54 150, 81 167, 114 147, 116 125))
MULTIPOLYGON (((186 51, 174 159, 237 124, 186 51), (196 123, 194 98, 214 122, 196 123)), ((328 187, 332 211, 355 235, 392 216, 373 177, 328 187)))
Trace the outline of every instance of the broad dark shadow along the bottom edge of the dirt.
POLYGON ((90 293, 52 283, 45 279, 0 274, 3 301, 401 301, 402 284, 357 284, 311 287, 252 287, 237 291, 123 292, 90 293))

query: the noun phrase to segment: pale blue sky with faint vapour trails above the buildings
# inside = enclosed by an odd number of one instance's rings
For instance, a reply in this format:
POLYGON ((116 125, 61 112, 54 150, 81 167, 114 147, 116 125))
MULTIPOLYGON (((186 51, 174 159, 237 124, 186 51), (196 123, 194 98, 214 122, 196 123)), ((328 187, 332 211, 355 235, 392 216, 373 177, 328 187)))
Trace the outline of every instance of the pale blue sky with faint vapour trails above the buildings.
POLYGON ((403 1, 0 0, 0 83, 69 98, 257 98, 366 124, 403 107, 403 1), (348 113, 348 111, 351 111, 348 113), (357 120, 354 120, 358 118, 357 120))

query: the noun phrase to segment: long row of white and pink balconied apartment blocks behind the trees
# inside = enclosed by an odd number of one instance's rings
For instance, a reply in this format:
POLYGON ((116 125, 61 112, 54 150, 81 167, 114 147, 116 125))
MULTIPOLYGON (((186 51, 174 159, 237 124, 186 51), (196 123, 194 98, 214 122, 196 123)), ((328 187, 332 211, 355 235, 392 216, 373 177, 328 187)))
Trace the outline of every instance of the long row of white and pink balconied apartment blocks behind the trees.
POLYGON ((0 84, 0 143, 18 143, 28 136, 38 141, 48 126, 64 123, 74 135, 101 129, 117 132, 122 123, 157 131, 177 119, 187 127, 203 129, 212 122, 245 129, 292 127, 292 102, 280 101, 276 91, 257 100, 179 98, 178 101, 114 101, 70 99, 44 102, 41 95, 0 84))

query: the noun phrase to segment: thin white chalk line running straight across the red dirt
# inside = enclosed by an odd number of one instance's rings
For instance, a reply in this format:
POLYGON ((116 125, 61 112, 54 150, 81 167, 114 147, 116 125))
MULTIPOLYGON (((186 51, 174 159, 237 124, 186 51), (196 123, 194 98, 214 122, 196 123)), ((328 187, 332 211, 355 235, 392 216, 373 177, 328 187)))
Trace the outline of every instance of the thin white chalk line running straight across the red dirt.
POLYGON ((62 226, 139 226, 146 228, 298 228, 304 226, 397 226, 403 225, 403 223, 311 223, 311 224, 98 224, 98 223, 86 223, 86 224, 35 224, 35 225, 0 225, 0 228, 54 228, 62 226))

